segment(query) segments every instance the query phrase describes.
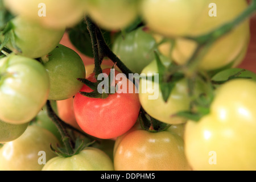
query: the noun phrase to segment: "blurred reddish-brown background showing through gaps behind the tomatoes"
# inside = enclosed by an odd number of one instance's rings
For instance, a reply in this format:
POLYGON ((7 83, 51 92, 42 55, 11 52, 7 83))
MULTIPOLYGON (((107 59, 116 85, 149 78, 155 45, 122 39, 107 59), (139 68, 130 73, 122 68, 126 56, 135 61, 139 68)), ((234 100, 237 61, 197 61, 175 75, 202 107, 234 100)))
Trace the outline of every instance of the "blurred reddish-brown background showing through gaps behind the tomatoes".
MULTIPOLYGON (((251 24, 251 39, 250 39, 250 45, 247 50, 247 54, 245 56, 245 59, 243 60, 242 64, 239 65, 238 67, 240 68, 245 68, 250 71, 253 71, 256 73, 256 15, 251 18, 250 21, 251 24)), ((93 64, 93 59, 86 57, 69 42, 68 35, 65 34, 63 36, 63 39, 60 42, 61 44, 64 44, 65 46, 72 48, 75 50, 79 55, 81 56, 82 60, 84 61, 85 65, 86 64, 93 64)), ((111 64, 111 61, 105 61, 106 64, 111 64)))

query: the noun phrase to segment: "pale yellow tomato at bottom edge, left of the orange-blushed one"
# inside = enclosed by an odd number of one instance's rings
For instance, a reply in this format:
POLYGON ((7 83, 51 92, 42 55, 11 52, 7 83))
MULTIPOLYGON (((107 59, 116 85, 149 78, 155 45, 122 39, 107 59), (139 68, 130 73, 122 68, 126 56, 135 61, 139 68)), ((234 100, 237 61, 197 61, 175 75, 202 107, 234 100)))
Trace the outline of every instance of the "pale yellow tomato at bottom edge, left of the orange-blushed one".
POLYGON ((113 162, 105 152, 88 147, 68 158, 57 156, 42 171, 114 171, 113 162))

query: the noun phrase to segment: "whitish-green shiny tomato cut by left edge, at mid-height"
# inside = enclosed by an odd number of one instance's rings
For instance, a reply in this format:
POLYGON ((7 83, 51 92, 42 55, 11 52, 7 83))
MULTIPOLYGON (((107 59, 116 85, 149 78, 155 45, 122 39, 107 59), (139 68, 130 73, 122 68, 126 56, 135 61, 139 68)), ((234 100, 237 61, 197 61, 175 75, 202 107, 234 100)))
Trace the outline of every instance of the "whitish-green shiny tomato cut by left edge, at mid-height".
POLYGON ((0 119, 30 122, 46 104, 49 77, 38 61, 10 55, 0 59, 0 119))

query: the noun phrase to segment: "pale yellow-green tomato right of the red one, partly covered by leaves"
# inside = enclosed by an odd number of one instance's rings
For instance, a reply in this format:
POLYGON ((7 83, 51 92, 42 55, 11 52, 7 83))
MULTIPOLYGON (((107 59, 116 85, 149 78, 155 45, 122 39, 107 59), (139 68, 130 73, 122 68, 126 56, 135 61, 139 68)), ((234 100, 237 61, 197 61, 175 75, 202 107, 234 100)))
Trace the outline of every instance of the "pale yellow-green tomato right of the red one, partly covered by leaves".
MULTIPOLYGON (((158 74, 155 60, 147 65, 141 73, 141 75, 145 76, 149 74, 152 76, 158 74)), ((199 78, 196 79, 194 87, 195 97, 209 92, 208 86, 199 78)), ((152 79, 141 78, 139 82, 139 101, 146 113, 151 117, 164 123, 178 125, 187 121, 183 117, 173 115, 180 111, 190 110, 192 98, 189 96, 188 90, 188 79, 184 77, 175 83, 167 101, 164 101, 159 82, 157 80, 152 81, 152 79)))

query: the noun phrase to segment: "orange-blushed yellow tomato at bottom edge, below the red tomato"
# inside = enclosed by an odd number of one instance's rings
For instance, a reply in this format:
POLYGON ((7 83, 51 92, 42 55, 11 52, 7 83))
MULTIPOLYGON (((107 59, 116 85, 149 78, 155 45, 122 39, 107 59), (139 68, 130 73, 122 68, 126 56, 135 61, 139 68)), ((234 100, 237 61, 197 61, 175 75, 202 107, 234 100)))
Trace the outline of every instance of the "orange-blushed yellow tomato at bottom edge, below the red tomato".
POLYGON ((191 170, 183 139, 175 133, 134 130, 125 135, 114 153, 116 171, 191 170))

